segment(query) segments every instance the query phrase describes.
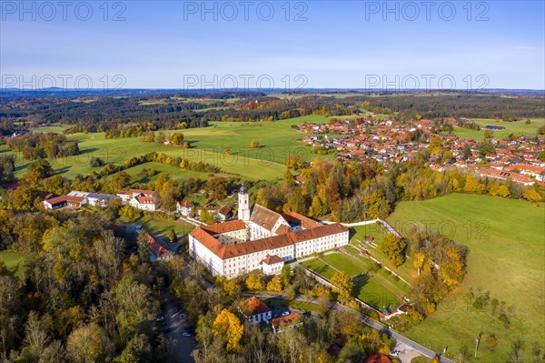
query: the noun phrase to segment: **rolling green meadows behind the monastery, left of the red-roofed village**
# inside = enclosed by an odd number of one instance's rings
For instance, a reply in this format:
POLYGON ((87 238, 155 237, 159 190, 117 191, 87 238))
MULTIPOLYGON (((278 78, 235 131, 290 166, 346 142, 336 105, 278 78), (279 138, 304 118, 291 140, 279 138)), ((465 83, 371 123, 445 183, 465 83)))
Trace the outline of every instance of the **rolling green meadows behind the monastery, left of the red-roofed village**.
MULTIPOLYGON (((284 161, 289 155, 303 156, 311 160, 317 155, 312 154, 312 149, 301 142, 302 133, 294 130, 292 125, 304 122, 328 122, 325 116, 304 116, 276 122, 255 123, 230 123, 213 122, 205 128, 192 128, 176 130, 182 132, 186 140, 192 144, 192 148, 183 149, 179 146, 170 146, 154 143, 142 143, 140 137, 106 139, 104 133, 68 135, 68 139, 77 140, 81 150, 78 156, 68 156, 49 160, 58 174, 73 178, 77 174, 88 175, 92 170, 100 168, 89 166, 92 156, 101 157, 106 163, 122 165, 126 159, 139 156, 148 152, 163 152, 167 156, 180 156, 192 161, 219 166, 222 172, 238 174, 245 179, 274 180, 282 179, 285 173, 284 161), (260 143, 259 148, 251 148, 250 141, 256 139, 260 143), (225 148, 231 149, 231 155, 226 156, 225 148)), ((62 131, 63 126, 39 127, 36 131, 62 131)), ((170 131, 166 131, 170 132, 170 131)), ((174 131, 173 131, 174 132, 174 131)), ((5 146, 3 151, 7 151, 5 146)), ((25 174, 26 167, 30 164, 17 155, 15 176, 25 174)), ((319 156, 332 158, 332 156, 319 156)), ((136 174, 143 167, 154 167, 160 171, 170 171, 173 176, 199 176, 210 177, 206 173, 183 171, 171 166, 153 166, 144 164, 134 166, 135 170, 127 172, 138 180, 136 174), (169 169, 169 170, 165 170, 169 169)))

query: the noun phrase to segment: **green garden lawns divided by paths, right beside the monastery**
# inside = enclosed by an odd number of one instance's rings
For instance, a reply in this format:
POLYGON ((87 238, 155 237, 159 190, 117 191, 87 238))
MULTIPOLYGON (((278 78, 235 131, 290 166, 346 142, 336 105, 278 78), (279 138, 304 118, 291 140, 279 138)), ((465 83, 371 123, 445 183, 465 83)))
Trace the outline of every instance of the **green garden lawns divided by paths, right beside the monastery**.
POLYGON ((400 305, 401 297, 409 290, 406 284, 371 260, 359 256, 358 249, 348 246, 341 250, 304 261, 302 265, 329 280, 336 271, 346 272, 354 281, 354 296, 373 308, 400 305))

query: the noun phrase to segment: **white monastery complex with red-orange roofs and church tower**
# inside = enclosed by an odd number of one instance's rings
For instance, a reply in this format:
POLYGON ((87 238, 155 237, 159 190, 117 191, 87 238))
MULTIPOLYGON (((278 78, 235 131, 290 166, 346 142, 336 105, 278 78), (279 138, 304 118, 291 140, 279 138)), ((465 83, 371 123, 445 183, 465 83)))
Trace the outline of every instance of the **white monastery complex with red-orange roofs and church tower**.
POLYGON ((237 277, 259 269, 277 274, 285 262, 349 243, 348 228, 297 213, 276 213, 254 204, 248 190, 238 195, 238 219, 198 227, 189 234, 189 251, 214 276, 237 277))

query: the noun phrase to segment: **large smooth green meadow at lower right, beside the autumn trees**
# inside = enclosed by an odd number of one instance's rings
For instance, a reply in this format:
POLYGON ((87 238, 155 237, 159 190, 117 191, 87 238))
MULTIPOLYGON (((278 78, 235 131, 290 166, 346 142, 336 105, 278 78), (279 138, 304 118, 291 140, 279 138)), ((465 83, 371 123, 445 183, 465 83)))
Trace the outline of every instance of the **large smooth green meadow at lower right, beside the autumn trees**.
MULTIPOLYGON (((401 234, 427 223, 444 235, 469 247, 467 275, 438 310, 416 328, 409 338, 448 354, 471 350, 482 332, 478 361, 504 361, 511 343, 524 342, 525 357, 531 345, 545 346, 545 213, 543 205, 487 196, 451 195, 422 202, 403 202, 388 219, 401 234), (510 328, 504 328, 490 308, 476 309, 466 294, 490 293, 505 304, 510 328), (484 339, 495 334, 498 348, 490 352, 484 339)), ((528 360, 526 360, 528 361, 528 360)))

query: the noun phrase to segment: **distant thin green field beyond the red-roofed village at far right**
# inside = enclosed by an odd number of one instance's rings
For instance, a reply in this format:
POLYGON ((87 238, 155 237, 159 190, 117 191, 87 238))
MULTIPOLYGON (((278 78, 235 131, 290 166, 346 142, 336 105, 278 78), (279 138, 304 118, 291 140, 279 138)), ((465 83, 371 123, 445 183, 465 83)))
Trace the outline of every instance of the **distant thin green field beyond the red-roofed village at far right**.
POLYGON ((469 128, 457 127, 454 129, 454 134, 456 134, 460 138, 471 137, 471 138, 474 138, 475 140, 483 140, 484 126, 491 125, 491 126, 505 127, 505 130, 494 131, 494 137, 496 138, 505 138, 509 136, 511 133, 514 133, 516 135, 535 136, 537 135, 538 127, 542 126, 545 123, 545 120, 543 118, 531 119, 530 125, 526 125, 525 123, 526 120, 506 122, 506 121, 496 121, 491 118, 474 118, 473 121, 475 121, 477 124, 481 126, 481 130, 477 131, 477 130, 471 130, 469 128))

